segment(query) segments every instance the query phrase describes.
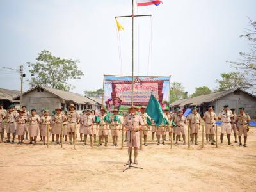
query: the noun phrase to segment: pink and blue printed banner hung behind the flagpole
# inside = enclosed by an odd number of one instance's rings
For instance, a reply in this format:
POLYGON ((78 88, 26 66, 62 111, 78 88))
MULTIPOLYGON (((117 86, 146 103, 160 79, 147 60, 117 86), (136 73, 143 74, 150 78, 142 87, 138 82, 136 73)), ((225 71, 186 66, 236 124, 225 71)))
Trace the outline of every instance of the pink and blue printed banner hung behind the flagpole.
MULTIPOLYGON (((104 76, 104 101, 108 111, 131 106, 131 76, 104 76)), ((170 76, 134 76, 133 104, 147 106, 153 94, 163 108, 170 100, 170 76)))

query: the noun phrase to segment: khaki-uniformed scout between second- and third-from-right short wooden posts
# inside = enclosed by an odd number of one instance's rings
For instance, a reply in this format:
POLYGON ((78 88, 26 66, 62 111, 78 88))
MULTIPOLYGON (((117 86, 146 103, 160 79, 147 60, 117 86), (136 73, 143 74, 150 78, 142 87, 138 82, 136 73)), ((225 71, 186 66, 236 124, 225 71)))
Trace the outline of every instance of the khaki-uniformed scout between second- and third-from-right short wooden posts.
POLYGON ((200 124, 201 124, 201 116, 199 113, 197 113, 198 108, 194 107, 193 108, 193 113, 191 113, 188 116, 188 121, 190 125, 190 135, 191 135, 191 145, 194 145, 194 138, 195 138, 195 144, 198 145, 197 143, 197 138, 198 138, 198 131, 200 129, 200 124))

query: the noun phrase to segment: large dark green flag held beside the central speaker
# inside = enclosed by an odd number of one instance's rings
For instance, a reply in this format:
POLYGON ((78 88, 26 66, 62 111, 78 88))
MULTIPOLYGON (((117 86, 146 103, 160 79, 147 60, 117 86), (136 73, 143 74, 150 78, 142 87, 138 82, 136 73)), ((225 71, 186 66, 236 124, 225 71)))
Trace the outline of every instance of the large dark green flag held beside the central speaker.
POLYGON ((146 113, 154 120, 157 126, 163 121, 163 111, 156 97, 151 94, 146 108, 146 113))

